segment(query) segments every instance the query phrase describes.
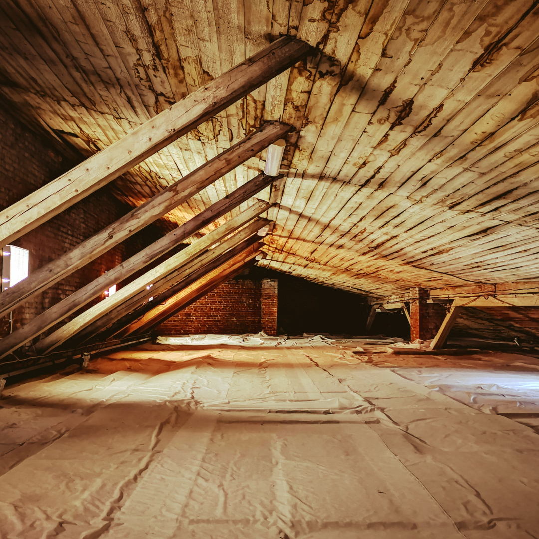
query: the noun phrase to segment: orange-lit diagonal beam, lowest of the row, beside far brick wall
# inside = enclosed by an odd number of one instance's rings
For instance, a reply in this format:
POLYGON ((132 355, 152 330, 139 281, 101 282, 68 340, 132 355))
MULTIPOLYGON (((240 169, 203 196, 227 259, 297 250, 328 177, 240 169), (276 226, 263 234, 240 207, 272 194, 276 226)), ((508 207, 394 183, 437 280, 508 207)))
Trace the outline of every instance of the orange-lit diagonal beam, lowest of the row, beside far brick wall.
MULTIPOLYGON (((175 291, 177 289, 179 291, 174 295, 167 294, 169 296, 167 299, 158 297, 158 305, 149 310, 139 320, 130 324, 126 330, 121 331, 121 336, 125 337, 135 331, 137 333, 142 333, 170 316, 174 316, 180 309, 184 308, 186 303, 189 302, 192 297, 198 296, 199 293, 203 292, 202 289, 208 285, 210 281, 219 281, 220 284, 229 280, 231 278, 230 274, 237 271, 239 266, 243 266, 245 262, 254 259, 254 257, 259 254, 262 245, 263 244, 260 241, 250 245, 216 268, 211 269, 204 266, 203 275, 198 276, 198 279, 195 281, 192 279, 181 281, 178 284, 179 286, 176 285, 175 287, 172 287, 175 291), (223 279, 219 280, 221 278, 223 279)), ((219 286, 219 284, 215 285, 212 289, 219 286)), ((207 292, 204 292, 204 294, 205 293, 207 292)))

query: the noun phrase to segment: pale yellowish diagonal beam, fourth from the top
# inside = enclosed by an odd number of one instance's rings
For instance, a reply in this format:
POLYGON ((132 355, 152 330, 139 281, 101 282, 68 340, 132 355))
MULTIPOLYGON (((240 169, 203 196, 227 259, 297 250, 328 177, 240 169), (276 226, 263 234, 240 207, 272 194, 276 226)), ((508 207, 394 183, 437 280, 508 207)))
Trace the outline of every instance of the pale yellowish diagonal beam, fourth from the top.
POLYGON ((142 277, 135 279, 127 286, 121 288, 113 296, 110 296, 106 300, 98 303, 98 305, 94 305, 87 309, 84 313, 75 317, 71 322, 68 322, 57 331, 54 331, 52 335, 49 335, 38 343, 36 350, 38 353, 43 354, 58 347, 68 338, 77 334, 95 320, 98 320, 116 306, 125 302, 138 292, 143 291, 148 285, 153 284, 154 281, 174 272, 175 269, 181 267, 191 258, 194 258, 198 253, 205 251, 208 247, 215 244, 220 239, 223 239, 225 236, 228 236, 231 232, 237 230, 240 226, 245 225, 270 207, 271 205, 265 202, 253 204, 250 208, 239 213, 236 217, 233 217, 223 225, 218 226, 215 230, 212 230, 201 239, 198 239, 183 251, 172 255, 169 259, 146 272, 142 277))

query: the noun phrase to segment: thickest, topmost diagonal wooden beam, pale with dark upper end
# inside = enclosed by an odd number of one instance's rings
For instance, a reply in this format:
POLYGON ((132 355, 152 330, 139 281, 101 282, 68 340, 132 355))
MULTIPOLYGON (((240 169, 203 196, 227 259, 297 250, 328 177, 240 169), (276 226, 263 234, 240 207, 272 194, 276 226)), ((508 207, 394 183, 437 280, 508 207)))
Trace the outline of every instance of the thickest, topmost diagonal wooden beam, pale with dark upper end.
POLYGON ((112 181, 313 51, 284 36, 121 140, 0 212, 0 245, 10 243, 112 181))

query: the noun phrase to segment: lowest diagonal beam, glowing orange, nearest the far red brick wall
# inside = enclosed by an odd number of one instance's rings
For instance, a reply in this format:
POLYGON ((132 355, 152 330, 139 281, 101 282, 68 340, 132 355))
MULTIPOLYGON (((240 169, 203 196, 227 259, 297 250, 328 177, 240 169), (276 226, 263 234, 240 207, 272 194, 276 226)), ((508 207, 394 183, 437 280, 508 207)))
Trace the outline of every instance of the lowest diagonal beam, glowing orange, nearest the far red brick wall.
POLYGON ((140 320, 130 324, 125 331, 122 331, 122 337, 134 333, 135 331, 137 333, 142 333, 150 327, 154 327, 169 319, 171 316, 174 316, 180 310, 185 308, 186 304, 190 303, 193 298, 200 298, 200 294, 205 295, 217 288, 217 286, 223 282, 231 279, 232 273, 237 273, 239 267, 243 267, 247 261, 254 259, 259 253, 259 250, 260 244, 254 244, 251 247, 248 247, 246 250, 225 262, 225 264, 222 264, 216 269, 213 269, 213 271, 203 275, 203 277, 199 278, 190 286, 182 281, 181 284, 183 288, 180 289, 179 292, 172 295, 170 299, 167 299, 166 303, 160 303, 160 305, 157 305, 144 314, 140 320))

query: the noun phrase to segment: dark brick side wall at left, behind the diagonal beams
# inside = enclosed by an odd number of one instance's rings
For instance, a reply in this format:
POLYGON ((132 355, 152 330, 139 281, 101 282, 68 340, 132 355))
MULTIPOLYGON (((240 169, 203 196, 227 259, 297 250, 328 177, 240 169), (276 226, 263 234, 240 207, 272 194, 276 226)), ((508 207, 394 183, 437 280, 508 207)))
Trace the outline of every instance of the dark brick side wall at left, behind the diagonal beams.
MULTIPOLYGON (((46 139, 1 108, 0 123, 0 209, 3 210, 76 163, 67 161, 46 139)), ((30 251, 31 275, 37 268, 58 258, 129 210, 129 206, 121 203, 105 186, 12 243, 30 251)), ((13 311, 13 329, 29 322, 159 236, 156 227, 147 227, 42 294, 33 296, 13 311)), ((104 296, 96 301, 102 298, 104 296)), ((0 320, 0 336, 7 333, 9 316, 0 320)))

